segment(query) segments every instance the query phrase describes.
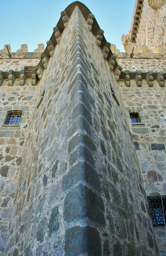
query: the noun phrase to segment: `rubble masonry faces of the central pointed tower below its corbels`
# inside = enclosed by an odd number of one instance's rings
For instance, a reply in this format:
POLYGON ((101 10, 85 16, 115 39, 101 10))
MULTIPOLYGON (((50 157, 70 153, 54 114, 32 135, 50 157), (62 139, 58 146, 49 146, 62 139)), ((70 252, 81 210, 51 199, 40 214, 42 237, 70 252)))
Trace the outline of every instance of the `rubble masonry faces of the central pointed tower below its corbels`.
POLYGON ((77 6, 43 72, 19 177, 8 256, 158 255, 120 92, 77 6))

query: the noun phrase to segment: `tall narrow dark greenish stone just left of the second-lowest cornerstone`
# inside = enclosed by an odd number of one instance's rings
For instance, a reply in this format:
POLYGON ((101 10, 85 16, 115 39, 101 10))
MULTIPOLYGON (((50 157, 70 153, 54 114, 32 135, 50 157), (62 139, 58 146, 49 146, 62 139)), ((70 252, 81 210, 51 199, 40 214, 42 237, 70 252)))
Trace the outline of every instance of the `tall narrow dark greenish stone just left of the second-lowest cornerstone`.
POLYGON ((59 210, 58 207, 54 207, 51 212, 51 217, 49 221, 49 237, 51 237, 52 232, 57 232, 59 229, 59 210))

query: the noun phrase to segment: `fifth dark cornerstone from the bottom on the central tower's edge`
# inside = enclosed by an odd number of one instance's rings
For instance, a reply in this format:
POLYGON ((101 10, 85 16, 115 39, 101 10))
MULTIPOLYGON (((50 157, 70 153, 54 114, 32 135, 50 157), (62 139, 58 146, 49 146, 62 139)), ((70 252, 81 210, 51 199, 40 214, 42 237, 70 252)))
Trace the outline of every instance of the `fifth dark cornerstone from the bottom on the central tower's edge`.
POLYGON ((93 143, 92 139, 83 133, 77 133, 68 143, 68 151, 73 151, 77 146, 83 145, 87 146, 90 150, 96 151, 96 146, 93 143))

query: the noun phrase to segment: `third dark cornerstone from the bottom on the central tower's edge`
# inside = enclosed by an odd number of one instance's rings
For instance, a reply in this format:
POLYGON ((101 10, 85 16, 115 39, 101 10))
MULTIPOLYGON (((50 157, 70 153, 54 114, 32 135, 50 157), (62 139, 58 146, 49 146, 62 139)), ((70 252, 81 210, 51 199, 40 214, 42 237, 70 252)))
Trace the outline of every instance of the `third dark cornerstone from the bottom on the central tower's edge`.
POLYGON ((66 175, 64 175, 62 180, 63 191, 66 191, 79 181, 87 182, 97 191, 101 191, 100 180, 97 172, 86 162, 78 162, 66 175))

